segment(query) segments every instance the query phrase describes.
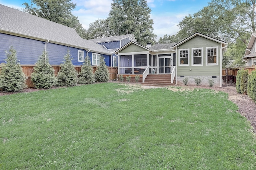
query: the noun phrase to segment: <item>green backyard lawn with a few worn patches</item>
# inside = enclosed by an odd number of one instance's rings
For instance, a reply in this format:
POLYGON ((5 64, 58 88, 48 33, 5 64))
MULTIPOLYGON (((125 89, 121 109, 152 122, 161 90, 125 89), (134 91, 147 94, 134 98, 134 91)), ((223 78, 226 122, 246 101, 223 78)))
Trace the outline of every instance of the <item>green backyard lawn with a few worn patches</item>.
POLYGON ((256 169, 228 94, 102 83, 0 96, 0 169, 256 169))

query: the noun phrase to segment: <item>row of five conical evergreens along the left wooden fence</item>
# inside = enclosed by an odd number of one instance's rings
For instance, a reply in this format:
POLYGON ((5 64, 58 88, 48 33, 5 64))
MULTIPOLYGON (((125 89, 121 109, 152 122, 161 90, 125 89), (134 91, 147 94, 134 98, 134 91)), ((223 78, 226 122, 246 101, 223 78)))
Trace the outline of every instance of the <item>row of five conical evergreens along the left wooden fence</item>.
MULTIPOLYGON (((6 52, 6 63, 0 66, 0 89, 6 92, 19 92, 26 88, 26 76, 22 72, 22 68, 18 63, 16 51, 10 47, 9 52, 6 52)), ((95 74, 92 72, 90 59, 87 56, 84 59, 81 72, 79 73, 72 64, 70 51, 64 56, 64 63, 60 64, 60 71, 57 77, 54 75, 54 69, 49 63, 49 57, 44 51, 38 58, 34 72, 31 74, 31 80, 36 88, 51 88, 52 86, 75 86, 79 84, 93 84, 96 82, 108 82, 109 72, 104 61, 104 57, 100 58, 100 65, 95 74)))

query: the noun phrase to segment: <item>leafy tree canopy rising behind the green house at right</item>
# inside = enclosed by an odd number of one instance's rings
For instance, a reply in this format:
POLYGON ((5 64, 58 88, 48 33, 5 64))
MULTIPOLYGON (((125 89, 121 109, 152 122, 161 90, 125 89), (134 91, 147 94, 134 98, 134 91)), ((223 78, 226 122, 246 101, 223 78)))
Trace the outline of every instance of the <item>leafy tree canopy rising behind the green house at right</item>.
POLYGON ((209 5, 195 14, 185 16, 176 35, 164 35, 159 43, 181 41, 200 32, 228 42, 224 57, 234 59, 233 66, 242 66, 242 57, 252 32, 255 32, 256 0, 211 0, 209 5))

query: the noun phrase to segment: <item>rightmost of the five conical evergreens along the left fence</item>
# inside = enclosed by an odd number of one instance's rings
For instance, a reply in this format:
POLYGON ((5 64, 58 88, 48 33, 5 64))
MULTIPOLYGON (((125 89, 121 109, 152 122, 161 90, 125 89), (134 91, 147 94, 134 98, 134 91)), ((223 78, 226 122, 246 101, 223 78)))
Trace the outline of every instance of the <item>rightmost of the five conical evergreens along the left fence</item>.
POLYGON ((104 57, 100 57, 100 65, 95 71, 95 80, 96 82, 108 82, 109 81, 109 72, 104 57))

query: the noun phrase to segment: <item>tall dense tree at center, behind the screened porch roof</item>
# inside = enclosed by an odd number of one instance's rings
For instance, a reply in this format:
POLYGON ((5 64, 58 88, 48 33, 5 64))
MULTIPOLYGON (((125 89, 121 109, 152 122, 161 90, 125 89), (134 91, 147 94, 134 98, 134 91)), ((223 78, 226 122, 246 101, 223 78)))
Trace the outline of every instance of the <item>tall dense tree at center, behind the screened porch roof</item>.
POLYGON ((142 45, 155 43, 153 20, 146 0, 113 0, 109 12, 110 35, 134 34, 142 45))

